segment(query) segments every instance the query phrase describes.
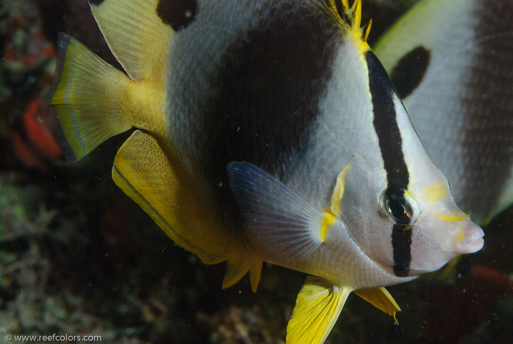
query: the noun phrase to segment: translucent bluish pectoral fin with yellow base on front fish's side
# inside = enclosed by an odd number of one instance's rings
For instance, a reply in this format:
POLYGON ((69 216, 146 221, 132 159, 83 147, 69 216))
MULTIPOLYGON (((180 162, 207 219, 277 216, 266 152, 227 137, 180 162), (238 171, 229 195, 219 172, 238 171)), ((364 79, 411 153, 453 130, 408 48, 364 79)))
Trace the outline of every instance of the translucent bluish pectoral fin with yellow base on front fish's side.
POLYGON ((227 171, 248 230, 275 257, 306 261, 330 227, 342 225, 257 166, 231 162, 227 171))

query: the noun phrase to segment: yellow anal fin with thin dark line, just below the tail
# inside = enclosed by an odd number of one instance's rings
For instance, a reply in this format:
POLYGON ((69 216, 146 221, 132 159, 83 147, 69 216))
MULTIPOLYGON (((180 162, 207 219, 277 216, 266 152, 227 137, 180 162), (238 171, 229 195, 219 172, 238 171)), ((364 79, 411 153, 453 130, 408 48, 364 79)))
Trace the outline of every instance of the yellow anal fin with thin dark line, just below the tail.
POLYGON ((205 264, 226 259, 219 252, 209 250, 217 249, 213 236, 218 233, 210 233, 211 228, 194 221, 203 214, 191 214, 194 208, 189 203, 194 200, 177 194, 183 187, 180 176, 152 136, 140 130, 132 133, 117 152, 112 179, 176 244, 200 257, 205 264))

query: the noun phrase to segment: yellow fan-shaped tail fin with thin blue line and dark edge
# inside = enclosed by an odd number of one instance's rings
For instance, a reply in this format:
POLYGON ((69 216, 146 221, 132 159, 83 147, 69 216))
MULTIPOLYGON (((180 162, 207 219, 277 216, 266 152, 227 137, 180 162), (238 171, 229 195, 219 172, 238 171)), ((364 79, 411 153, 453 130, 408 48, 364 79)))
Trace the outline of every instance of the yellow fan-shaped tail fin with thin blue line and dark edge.
POLYGON ((57 63, 47 103, 65 157, 77 161, 132 126, 123 94, 131 80, 70 35, 59 33, 57 63))

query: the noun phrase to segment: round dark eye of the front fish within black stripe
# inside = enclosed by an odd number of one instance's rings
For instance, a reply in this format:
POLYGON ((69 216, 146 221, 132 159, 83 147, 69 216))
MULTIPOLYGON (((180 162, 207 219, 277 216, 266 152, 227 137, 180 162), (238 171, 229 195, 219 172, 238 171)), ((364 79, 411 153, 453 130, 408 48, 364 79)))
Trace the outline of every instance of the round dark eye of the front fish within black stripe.
POLYGON ((399 184, 391 184, 383 191, 380 206, 390 220, 401 224, 412 224, 422 212, 408 188, 399 184))

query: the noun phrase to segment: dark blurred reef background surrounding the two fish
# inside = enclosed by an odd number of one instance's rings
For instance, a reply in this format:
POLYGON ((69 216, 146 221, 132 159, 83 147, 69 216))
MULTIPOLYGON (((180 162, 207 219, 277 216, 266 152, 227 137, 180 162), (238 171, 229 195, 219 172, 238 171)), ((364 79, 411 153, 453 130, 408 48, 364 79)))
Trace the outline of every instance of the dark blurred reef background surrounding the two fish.
MULTIPOLYGON (((364 0, 369 43, 415 1, 364 0)), ((499 14, 498 14, 499 15, 499 14)), ((281 343, 305 275, 264 264, 257 293, 221 289, 224 263, 176 246, 110 175, 129 133, 67 164, 44 98, 63 31, 121 68, 86 0, 0 0, 0 343, 100 335, 123 343, 281 343)), ((512 47, 513 50, 513 47, 512 47)), ((387 290, 399 325, 349 296, 327 343, 506 343, 513 337, 513 208, 485 246, 387 290)))

